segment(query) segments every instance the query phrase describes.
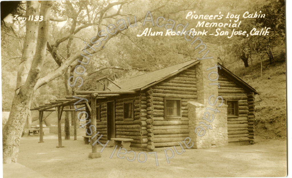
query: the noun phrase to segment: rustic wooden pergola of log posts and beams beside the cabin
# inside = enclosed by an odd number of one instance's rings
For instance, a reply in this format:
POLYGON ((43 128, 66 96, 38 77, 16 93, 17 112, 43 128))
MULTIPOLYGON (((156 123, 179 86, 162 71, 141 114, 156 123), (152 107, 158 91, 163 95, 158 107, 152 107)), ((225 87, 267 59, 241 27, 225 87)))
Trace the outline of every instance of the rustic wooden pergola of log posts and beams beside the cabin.
MULTIPOLYGON (((104 79, 104 77, 102 77, 104 79)), ((99 81, 100 79, 98 79, 99 81)), ((111 97, 118 97, 124 94, 135 94, 137 91, 77 91, 75 97, 84 98, 79 102, 79 98, 74 98, 73 96, 65 96, 65 98, 56 99, 49 103, 41 104, 39 107, 31 108, 30 110, 39 111, 39 143, 44 142, 43 140, 43 113, 44 111, 56 111, 58 116, 58 146, 62 146, 62 135, 61 135, 61 116, 63 111, 86 111, 85 109, 64 109, 66 106, 76 106, 76 105, 86 105, 91 113, 91 124, 96 125, 96 109, 91 109, 96 107, 97 100, 109 100, 111 97), (95 101, 95 102, 92 102, 95 101), (89 105, 88 103, 91 103, 89 105)), ((81 107, 80 107, 81 108, 81 107)), ((96 134, 96 131, 92 133, 92 136, 96 134)), ((74 119, 74 140, 77 139, 77 119, 74 119)), ((91 139, 91 144, 96 141, 96 137, 91 139)), ((96 144, 92 146, 92 153, 97 153, 96 144)))

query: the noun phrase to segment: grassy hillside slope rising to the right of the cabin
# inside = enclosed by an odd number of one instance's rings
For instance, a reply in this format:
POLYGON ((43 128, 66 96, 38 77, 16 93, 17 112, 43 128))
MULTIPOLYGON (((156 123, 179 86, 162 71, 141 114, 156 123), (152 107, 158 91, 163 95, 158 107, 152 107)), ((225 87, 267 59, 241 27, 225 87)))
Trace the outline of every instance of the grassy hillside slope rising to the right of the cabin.
POLYGON ((260 93, 255 97, 256 135, 259 139, 286 139, 285 53, 275 55, 274 59, 272 64, 269 64, 268 59, 263 60, 263 78, 259 61, 254 61, 253 67, 251 64, 250 67, 242 65, 234 70, 237 76, 260 93))

